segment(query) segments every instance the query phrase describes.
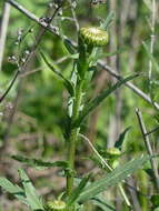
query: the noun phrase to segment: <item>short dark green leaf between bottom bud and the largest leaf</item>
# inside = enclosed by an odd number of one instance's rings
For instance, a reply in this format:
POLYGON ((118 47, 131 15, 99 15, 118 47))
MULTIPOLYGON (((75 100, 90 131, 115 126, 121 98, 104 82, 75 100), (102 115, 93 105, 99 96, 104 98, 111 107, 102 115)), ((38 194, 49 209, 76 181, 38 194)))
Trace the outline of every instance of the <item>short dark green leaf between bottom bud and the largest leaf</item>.
POLYGON ((86 175, 79 183, 79 185, 73 190, 72 194, 68 199, 68 205, 71 205, 76 202, 80 193, 83 191, 83 188, 87 185, 91 174, 86 175))

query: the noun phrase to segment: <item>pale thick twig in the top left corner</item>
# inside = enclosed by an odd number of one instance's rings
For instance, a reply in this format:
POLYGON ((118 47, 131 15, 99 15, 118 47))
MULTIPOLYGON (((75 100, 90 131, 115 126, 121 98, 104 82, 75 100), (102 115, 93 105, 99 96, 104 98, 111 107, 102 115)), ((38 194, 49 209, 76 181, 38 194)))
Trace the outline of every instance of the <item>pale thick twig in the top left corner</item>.
POLYGON ((0 26, 0 70, 2 67, 9 17, 10 17, 10 4, 8 2, 4 2, 2 20, 1 20, 1 26, 0 26))

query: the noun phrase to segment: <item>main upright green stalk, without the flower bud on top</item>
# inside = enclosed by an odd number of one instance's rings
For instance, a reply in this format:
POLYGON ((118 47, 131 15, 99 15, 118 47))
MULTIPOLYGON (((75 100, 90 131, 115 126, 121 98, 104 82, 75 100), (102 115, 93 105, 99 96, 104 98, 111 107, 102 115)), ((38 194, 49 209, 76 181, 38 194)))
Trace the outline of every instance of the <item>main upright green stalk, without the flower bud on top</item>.
POLYGON ((83 83, 86 72, 88 70, 89 63, 87 59, 87 49, 79 37, 79 59, 77 61, 77 82, 74 84, 74 97, 73 97, 73 108, 71 115, 71 124, 70 124, 70 135, 69 135, 69 144, 68 144, 68 163, 69 163, 69 173, 67 175, 67 194, 70 195, 73 189, 73 174, 74 174, 74 157, 76 157, 76 144, 78 134, 80 131, 79 127, 74 127, 73 123, 79 117, 82 92, 83 92, 83 83))

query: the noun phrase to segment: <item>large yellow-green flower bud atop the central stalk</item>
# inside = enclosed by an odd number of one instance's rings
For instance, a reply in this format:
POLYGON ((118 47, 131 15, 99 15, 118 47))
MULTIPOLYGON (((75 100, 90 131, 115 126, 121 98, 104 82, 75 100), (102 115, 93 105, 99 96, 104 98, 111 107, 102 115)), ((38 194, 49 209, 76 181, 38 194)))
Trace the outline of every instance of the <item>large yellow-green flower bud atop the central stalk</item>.
POLYGON ((79 33, 87 44, 103 47, 108 43, 108 32, 100 28, 81 28, 79 33))

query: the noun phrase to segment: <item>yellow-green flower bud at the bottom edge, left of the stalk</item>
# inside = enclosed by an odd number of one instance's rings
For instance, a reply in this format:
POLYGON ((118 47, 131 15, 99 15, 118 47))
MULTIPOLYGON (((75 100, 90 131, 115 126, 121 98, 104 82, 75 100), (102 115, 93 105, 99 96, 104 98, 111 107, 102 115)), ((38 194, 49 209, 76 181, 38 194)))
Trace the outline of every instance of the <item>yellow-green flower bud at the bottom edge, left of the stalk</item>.
POLYGON ((48 211, 66 211, 66 202, 61 200, 48 201, 46 209, 48 211))

